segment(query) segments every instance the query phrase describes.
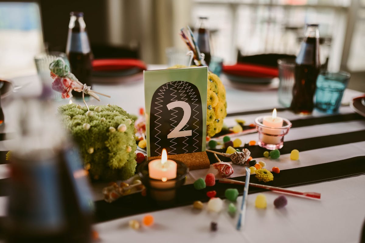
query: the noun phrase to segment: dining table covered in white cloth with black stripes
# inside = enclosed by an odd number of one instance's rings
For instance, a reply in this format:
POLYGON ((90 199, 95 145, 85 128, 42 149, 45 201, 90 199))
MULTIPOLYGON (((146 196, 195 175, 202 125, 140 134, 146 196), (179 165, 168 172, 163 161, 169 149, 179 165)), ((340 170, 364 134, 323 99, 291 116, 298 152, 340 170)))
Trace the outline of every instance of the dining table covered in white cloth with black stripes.
MULTIPOLYGON (((148 65, 149 70, 164 69, 165 65, 148 65)), ((128 195, 115 202, 103 200, 102 188, 106 183, 91 183, 95 214, 93 229, 98 234, 96 242, 245 242, 245 243, 357 243, 364 234, 365 220, 365 117, 354 112, 350 104, 354 97, 362 92, 346 89, 342 105, 334 114, 327 114, 314 109, 311 115, 300 116, 278 103, 277 87, 249 89, 233 85, 227 77, 220 76, 226 88, 227 117, 224 124, 233 127, 236 120, 245 124, 254 124, 258 116, 271 115, 274 108, 277 116, 284 117, 292 123, 284 137, 284 146, 280 149, 278 159, 264 157, 267 150, 257 145, 249 145, 258 140, 257 132, 236 136, 242 141, 242 147, 251 152, 253 159, 263 161, 269 171, 280 168, 274 174, 269 185, 287 188, 300 192, 317 192, 320 199, 308 199, 285 195, 287 205, 276 208, 274 200, 280 196, 277 192, 249 187, 247 207, 243 227, 236 229, 239 217, 244 186, 219 183, 222 178, 212 166, 217 162, 208 152, 210 168, 189 171, 185 184, 177 191, 176 203, 169 206, 155 206, 149 199, 140 194, 128 195), (299 151, 299 160, 290 158, 291 151, 299 151), (204 190, 195 190, 193 183, 213 173, 216 184, 204 190), (225 199, 227 188, 237 188, 239 196, 235 214, 227 211, 230 201, 225 199), (223 199, 223 210, 207 210, 209 198, 207 191, 215 190, 217 197, 223 199), (267 207, 255 207, 259 194, 266 197, 267 207), (202 210, 193 208, 193 202, 200 200, 202 210), (130 220, 142 221, 145 215, 152 215, 154 224, 135 230, 129 226, 130 220), (216 223, 216 230, 211 230, 211 223, 216 223)), ((12 133, 16 132, 13 122, 16 101, 21 97, 35 97, 41 93, 41 81, 37 75, 14 77, 10 79, 18 89, 1 97, 1 107, 5 123, 0 127, 1 156, 9 150, 12 133)), ((274 81, 274 82, 277 82, 274 81)), ((139 109, 145 106, 143 75, 134 75, 133 80, 113 80, 103 83, 99 79, 93 84, 93 90, 110 95, 100 97, 100 101, 90 99, 89 105, 108 103, 122 107, 130 114, 138 115, 139 109)), ((74 103, 83 104, 73 99, 74 103)), ((69 100, 54 101, 54 110, 69 100)), ((219 141, 218 141, 219 142, 219 141)), ((222 141, 220 141, 222 142, 222 141)), ((208 148, 208 145, 207 145, 208 148)), ((216 148, 216 151, 225 150, 216 148)), ((137 151, 140 152, 140 151, 137 151)), ((228 160, 229 161, 229 160, 228 160)), ((232 164, 234 172, 228 179, 245 181, 246 166, 232 164)), ((1 159, 0 164, 0 216, 7 214, 8 195, 1 193, 1 186, 9 177, 9 164, 1 159)), ((257 182, 255 175, 250 182, 257 182)), ((362 238, 364 240, 364 238, 362 238)), ((0 240, 1 241, 1 240, 0 240)))

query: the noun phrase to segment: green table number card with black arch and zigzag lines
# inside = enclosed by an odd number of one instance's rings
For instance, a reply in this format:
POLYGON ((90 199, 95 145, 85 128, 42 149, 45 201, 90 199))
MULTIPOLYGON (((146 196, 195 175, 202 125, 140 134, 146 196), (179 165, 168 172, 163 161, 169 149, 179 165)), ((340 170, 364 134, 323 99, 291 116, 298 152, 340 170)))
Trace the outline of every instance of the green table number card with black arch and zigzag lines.
POLYGON ((143 73, 147 156, 160 156, 163 148, 170 156, 205 151, 207 71, 193 67, 143 73))

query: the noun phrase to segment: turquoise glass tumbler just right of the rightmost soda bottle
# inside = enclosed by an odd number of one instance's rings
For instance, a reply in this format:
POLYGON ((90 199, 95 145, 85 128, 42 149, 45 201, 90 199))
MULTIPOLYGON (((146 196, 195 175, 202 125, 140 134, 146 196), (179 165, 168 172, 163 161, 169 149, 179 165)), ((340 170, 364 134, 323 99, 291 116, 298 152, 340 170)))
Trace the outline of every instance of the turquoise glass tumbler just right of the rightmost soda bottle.
POLYGON ((326 113, 337 112, 349 80, 350 73, 348 72, 320 73, 317 78, 316 108, 326 113))

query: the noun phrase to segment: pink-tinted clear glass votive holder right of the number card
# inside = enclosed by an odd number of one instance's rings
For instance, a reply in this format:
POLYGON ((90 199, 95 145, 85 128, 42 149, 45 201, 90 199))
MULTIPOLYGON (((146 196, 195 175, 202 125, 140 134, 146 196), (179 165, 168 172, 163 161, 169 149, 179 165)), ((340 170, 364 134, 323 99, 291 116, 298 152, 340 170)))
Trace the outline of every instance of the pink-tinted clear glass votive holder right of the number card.
POLYGON ((284 146, 284 135, 289 132, 292 123, 283 118, 282 127, 268 127, 262 124, 264 116, 255 119, 256 130, 258 132, 258 145, 268 150, 280 149, 284 146))

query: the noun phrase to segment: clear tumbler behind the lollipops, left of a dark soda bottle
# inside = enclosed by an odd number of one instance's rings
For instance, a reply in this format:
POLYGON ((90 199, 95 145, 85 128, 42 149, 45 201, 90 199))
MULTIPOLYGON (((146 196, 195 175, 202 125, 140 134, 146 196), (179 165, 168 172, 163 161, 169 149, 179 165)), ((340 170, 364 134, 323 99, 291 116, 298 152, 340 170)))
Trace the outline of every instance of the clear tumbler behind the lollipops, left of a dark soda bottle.
POLYGON ((63 52, 49 52, 41 53, 34 57, 35 65, 39 79, 42 81, 42 97, 54 100, 61 100, 61 93, 52 89, 53 79, 50 76, 49 64, 61 57, 65 63, 70 66, 66 53, 63 52))

